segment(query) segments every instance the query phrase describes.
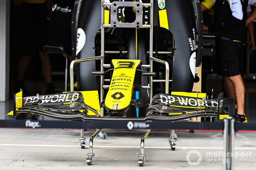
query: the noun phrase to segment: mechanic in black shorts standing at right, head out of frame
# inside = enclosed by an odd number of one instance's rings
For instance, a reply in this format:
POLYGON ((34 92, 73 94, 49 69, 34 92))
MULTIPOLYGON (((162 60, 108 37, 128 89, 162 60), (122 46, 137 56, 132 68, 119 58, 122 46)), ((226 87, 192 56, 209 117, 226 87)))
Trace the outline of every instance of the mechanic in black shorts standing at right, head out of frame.
MULTIPOLYGON (((229 91, 235 94, 238 122, 247 121, 244 112, 245 87, 239 71, 238 58, 248 5, 256 7, 256 0, 204 0, 201 5, 202 11, 214 8, 218 71, 221 72, 229 91)), ((251 44, 251 41, 249 43, 251 44)))

